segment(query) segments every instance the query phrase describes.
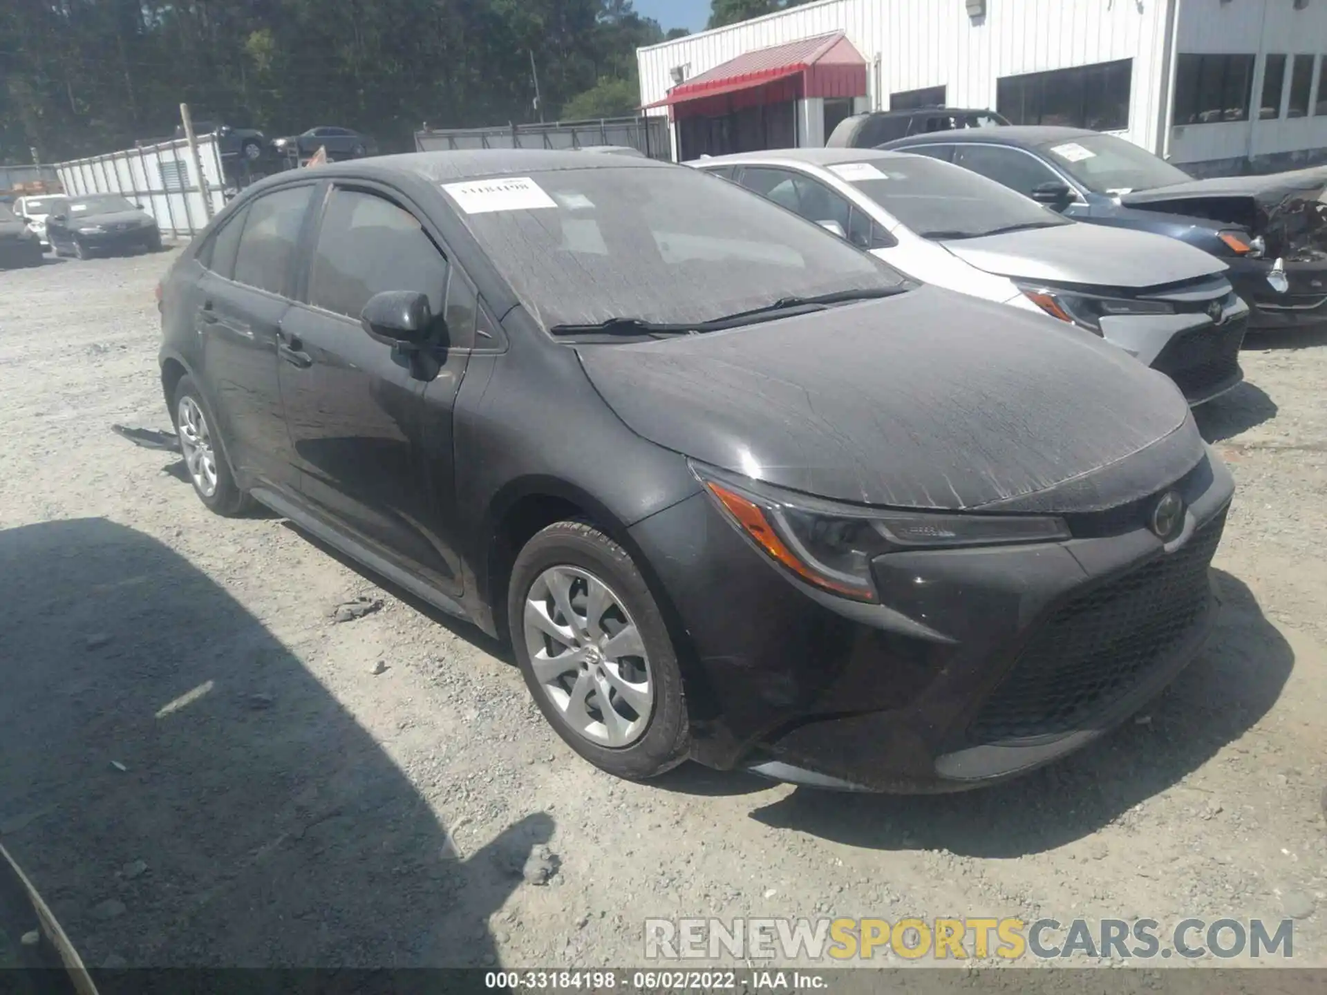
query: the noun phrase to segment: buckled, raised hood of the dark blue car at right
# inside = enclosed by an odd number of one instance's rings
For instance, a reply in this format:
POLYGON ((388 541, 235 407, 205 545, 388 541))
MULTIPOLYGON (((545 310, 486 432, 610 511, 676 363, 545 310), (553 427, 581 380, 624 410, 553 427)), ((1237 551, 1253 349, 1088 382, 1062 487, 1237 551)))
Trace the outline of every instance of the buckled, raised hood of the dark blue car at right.
POLYGON ((1327 166, 1267 176, 1213 176, 1124 194, 1123 204, 1197 214, 1249 228, 1267 256, 1327 261, 1327 166))

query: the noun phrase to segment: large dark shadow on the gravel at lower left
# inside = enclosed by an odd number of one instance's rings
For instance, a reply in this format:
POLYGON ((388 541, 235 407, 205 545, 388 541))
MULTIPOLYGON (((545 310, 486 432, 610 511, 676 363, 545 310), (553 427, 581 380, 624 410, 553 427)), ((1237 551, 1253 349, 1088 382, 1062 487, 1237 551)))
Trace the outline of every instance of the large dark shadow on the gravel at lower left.
POLYGON ((458 850, 296 655, 130 528, 0 531, 0 836, 88 963, 494 963, 548 815, 458 850))

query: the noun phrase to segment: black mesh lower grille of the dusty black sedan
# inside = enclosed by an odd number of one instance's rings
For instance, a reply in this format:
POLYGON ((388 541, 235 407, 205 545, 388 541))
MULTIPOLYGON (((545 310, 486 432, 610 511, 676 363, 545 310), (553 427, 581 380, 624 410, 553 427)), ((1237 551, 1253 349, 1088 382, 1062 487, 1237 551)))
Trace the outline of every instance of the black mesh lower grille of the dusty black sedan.
POLYGON ((1064 605, 1038 630, 969 730, 977 743, 1083 728, 1145 681, 1202 622, 1225 513, 1173 553, 1064 605))

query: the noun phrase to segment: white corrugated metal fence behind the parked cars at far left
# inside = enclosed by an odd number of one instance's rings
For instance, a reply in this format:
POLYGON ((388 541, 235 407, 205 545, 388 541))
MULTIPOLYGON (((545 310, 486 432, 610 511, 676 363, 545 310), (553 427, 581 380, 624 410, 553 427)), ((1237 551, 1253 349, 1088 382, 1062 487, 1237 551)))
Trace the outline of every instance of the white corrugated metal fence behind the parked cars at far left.
POLYGON ((162 233, 192 236, 207 224, 208 204, 211 214, 226 204, 216 137, 200 135, 198 154, 202 178, 183 138, 62 162, 54 170, 69 194, 122 194, 142 204, 162 233))

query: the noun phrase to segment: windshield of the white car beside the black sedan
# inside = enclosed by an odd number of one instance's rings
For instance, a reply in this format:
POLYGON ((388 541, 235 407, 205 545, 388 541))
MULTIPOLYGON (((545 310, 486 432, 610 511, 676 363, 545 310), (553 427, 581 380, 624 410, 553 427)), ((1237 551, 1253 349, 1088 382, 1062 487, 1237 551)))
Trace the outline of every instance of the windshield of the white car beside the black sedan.
POLYGON ((1072 224, 1022 194, 924 155, 828 167, 925 239, 975 239, 1072 224))

